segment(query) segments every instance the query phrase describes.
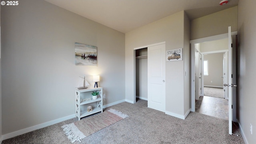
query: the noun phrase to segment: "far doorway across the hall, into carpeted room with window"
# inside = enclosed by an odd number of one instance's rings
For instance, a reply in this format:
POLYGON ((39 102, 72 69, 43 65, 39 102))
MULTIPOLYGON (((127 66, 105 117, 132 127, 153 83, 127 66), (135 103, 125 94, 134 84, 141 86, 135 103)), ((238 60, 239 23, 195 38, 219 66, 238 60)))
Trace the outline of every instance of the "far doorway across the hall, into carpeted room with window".
MULTIPOLYGON (((218 41, 214 41, 218 42, 218 41)), ((228 40, 224 39, 228 43, 228 40)), ((202 65, 203 73, 203 96, 212 96, 216 98, 226 98, 227 88, 223 84, 227 81, 228 61, 226 60, 228 50, 225 52, 203 52, 202 65)))

